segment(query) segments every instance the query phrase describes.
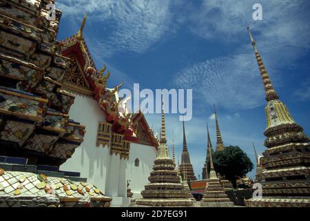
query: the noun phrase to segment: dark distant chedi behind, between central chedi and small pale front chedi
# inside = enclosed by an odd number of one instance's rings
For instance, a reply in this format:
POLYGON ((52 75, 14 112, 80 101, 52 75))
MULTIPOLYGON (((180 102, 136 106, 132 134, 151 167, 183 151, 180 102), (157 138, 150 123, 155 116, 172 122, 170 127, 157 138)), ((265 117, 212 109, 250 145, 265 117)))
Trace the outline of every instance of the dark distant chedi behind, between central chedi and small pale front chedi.
POLYGON ((185 179, 184 177, 185 171, 187 174, 187 181, 197 180, 197 178, 194 175, 193 165, 191 164, 191 160, 189 158, 189 152, 187 149, 186 137, 185 137, 185 126, 183 121, 183 150, 180 164, 180 173, 182 175, 183 180, 185 179))

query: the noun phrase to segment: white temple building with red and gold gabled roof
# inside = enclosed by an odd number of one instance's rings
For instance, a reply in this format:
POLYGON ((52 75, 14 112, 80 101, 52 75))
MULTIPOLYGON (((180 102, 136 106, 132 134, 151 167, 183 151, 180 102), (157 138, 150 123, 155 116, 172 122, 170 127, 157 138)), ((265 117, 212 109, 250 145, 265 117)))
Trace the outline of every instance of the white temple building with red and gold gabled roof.
POLYGON ((70 115, 79 119, 89 133, 61 169, 81 171, 81 176, 112 197, 112 206, 128 206, 126 182, 131 180, 133 198, 141 198, 156 158, 158 140, 143 113, 128 113, 123 98, 118 97, 123 81, 114 88, 107 88, 111 73, 105 66, 96 70, 83 37, 85 20, 86 17, 79 32, 61 44, 62 55, 70 58, 63 88, 76 97, 70 115))

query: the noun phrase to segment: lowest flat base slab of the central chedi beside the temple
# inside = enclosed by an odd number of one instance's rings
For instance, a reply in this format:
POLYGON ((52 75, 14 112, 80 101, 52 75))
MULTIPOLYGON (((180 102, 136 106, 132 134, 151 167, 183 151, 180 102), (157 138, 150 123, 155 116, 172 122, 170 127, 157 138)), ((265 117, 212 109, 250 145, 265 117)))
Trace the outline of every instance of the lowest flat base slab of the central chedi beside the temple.
POLYGON ((193 201, 189 199, 139 199, 137 206, 193 206, 193 201))

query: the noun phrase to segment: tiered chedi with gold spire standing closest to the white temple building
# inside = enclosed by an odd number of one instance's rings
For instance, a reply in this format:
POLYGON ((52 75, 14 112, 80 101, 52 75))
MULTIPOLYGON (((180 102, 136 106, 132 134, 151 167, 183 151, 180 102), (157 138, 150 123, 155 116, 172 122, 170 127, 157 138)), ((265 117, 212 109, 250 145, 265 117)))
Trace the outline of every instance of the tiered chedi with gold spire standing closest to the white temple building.
POLYGON ((170 158, 165 135, 165 114, 162 107, 161 142, 154 161, 154 171, 149 176, 149 184, 141 191, 143 199, 136 200, 136 204, 143 206, 192 206, 193 201, 188 198, 183 189, 180 177, 175 170, 174 162, 170 158))

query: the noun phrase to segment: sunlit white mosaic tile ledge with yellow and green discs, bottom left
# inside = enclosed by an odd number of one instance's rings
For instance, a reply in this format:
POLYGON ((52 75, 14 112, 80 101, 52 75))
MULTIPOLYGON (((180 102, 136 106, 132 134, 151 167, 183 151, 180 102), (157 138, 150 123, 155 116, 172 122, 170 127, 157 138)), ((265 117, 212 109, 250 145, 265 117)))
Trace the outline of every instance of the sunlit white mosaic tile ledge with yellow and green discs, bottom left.
MULTIPOLYGON (((88 206, 96 206, 96 202, 103 202, 101 206, 110 206, 111 198, 106 197, 96 186, 87 182, 73 182, 61 177, 47 177, 43 174, 4 171, 0 169, 0 207, 14 206, 8 204, 8 197, 15 199, 29 198, 24 202, 25 206, 37 206, 37 204, 50 205, 49 199, 54 206, 72 206, 66 202, 87 202, 88 206), (48 198, 48 196, 52 198, 48 198), (43 202, 36 201, 44 197, 43 202), (58 199, 59 201, 57 202, 58 199), (94 203, 92 203, 94 202, 94 203)), ((46 206, 48 206, 46 205, 46 206)), ((18 206, 21 206, 20 204, 18 206)))

